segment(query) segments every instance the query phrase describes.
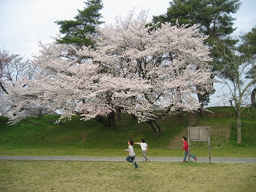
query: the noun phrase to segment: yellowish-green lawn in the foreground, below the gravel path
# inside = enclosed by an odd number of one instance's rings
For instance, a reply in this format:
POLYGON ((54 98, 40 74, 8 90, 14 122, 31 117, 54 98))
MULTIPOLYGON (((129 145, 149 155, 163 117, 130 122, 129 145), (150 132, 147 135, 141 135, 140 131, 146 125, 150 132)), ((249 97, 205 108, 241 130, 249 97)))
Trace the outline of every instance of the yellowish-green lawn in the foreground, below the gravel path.
POLYGON ((255 191, 256 164, 0 161, 0 191, 255 191))

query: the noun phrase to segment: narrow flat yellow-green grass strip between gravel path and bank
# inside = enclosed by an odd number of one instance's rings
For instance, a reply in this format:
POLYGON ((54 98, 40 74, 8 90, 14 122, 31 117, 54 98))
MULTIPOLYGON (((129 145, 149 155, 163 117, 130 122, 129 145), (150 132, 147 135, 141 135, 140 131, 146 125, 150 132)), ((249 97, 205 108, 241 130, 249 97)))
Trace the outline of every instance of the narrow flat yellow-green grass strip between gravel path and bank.
MULTIPOLYGON (((0 146, 0 156, 88 156, 88 157, 126 157, 124 148, 12 148, 0 146)), ((134 145, 137 156, 142 157, 140 145, 134 145)), ((191 154, 198 157, 209 157, 208 148, 191 148, 191 154)), ((151 148, 148 157, 182 157, 184 150, 151 148)), ((211 157, 256 157, 256 147, 213 148, 211 157)))

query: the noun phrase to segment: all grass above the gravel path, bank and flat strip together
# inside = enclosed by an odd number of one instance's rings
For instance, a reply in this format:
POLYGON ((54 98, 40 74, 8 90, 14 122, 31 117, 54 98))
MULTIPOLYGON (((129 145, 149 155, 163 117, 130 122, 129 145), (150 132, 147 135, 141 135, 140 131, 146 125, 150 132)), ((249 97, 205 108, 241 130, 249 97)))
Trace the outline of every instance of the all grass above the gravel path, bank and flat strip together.
MULTIPOLYGON (((209 108, 201 118, 196 113, 184 112, 179 116, 166 116, 156 120, 163 133, 152 136, 152 128, 145 122, 132 121, 131 115, 116 117, 118 130, 104 127, 96 120, 84 122, 79 116, 54 124, 58 115, 28 118, 18 124, 6 124, 0 117, 0 156, 5 155, 68 155, 68 156, 126 156, 129 139, 139 142, 145 138, 150 156, 182 156, 183 135, 188 126, 211 127, 211 150, 214 156, 256 157, 256 113, 246 111, 242 115, 242 143, 236 142, 236 119, 230 108, 209 108)), ((140 146, 134 145, 136 152, 140 146)), ((208 156, 207 141, 191 142, 191 150, 200 156, 208 156)))

